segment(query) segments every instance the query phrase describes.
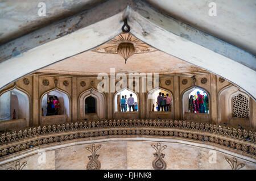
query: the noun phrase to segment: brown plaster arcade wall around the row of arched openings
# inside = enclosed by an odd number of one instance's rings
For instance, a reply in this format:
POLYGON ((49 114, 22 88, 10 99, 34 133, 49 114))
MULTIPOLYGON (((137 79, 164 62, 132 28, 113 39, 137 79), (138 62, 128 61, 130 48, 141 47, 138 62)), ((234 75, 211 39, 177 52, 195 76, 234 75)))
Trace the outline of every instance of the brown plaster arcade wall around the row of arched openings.
MULTIPOLYGON (((162 112, 158 113, 150 113, 151 108, 149 103, 147 103, 147 92, 138 92, 138 107, 139 111, 137 113, 117 113, 114 112, 114 95, 115 92, 103 92, 100 93, 97 91, 97 85, 101 80, 98 80, 97 77, 93 77, 92 75, 63 75, 63 74, 42 74, 42 73, 33 73, 28 75, 27 77, 30 83, 28 85, 24 85, 23 78, 19 79, 18 81, 12 83, 11 85, 7 86, 5 89, 0 90, 4 92, 8 89, 11 89, 14 85, 19 87, 26 92, 28 92, 28 96, 31 96, 32 102, 30 103, 30 110, 32 114, 31 124, 33 126, 42 124, 42 103, 41 101, 45 101, 43 95, 46 92, 51 92, 54 90, 58 90, 63 92, 63 94, 67 95, 69 100, 69 106, 67 106, 67 115, 69 112, 68 120, 61 120, 63 121, 77 121, 78 119, 83 120, 86 119, 147 119, 153 118, 156 119, 160 117, 162 119, 188 119, 194 121, 203 121, 208 123, 219 123, 222 124, 220 120, 228 119, 227 117, 221 117, 220 107, 225 110, 225 106, 222 104, 227 100, 221 99, 220 100, 220 92, 226 89, 226 86, 231 86, 232 83, 225 80, 224 82, 220 82, 220 77, 211 74, 211 73, 191 73, 191 74, 170 74, 170 75, 159 75, 159 87, 160 89, 166 90, 167 92, 172 93, 172 108, 173 111, 171 112, 172 115, 164 115, 162 112), (192 82, 192 75, 195 75, 196 82, 193 85, 192 82), (201 79, 207 78, 206 83, 202 83, 201 79), (184 84, 184 79, 187 79, 187 82, 184 84), (43 85, 43 81, 47 80, 49 84, 47 86, 43 85), (55 80, 57 83, 55 84, 55 80), (170 85, 166 85, 166 81, 170 80, 170 85), (64 86, 63 82, 67 81, 68 85, 64 86), (184 92, 193 89, 193 87, 199 87, 208 92, 209 95, 209 115, 199 115, 197 113, 193 113, 193 115, 184 115, 184 103, 183 103, 183 95, 184 92), (101 116, 91 115, 85 116, 82 113, 82 105, 84 103, 85 96, 89 96, 90 90, 93 90, 92 94, 96 96, 99 100, 97 103, 97 113, 100 113, 101 116), (84 94, 87 92, 86 94, 84 94), (84 94, 84 95, 83 95, 84 94), (221 106, 222 105, 222 106, 221 106), (69 111, 68 111, 69 108, 69 111), (150 109, 150 110, 149 110, 150 109), (79 111, 80 110, 80 111, 79 111), (155 115, 157 114, 157 115, 155 115), (205 117, 207 116, 207 117, 205 117)), ((129 82, 127 82, 129 85, 129 82)), ((153 81, 154 87, 154 81, 153 81)), ((141 86, 140 86, 140 89, 141 86)), ((109 87, 110 91, 110 87, 109 87)), ((66 102, 66 101, 65 101, 66 102)), ((66 107, 66 106, 65 106, 66 107)), ((222 109, 221 108, 221 109, 222 109)), ((255 102, 253 99, 250 99, 250 121, 249 123, 243 124, 243 120, 235 120, 234 126, 236 127, 238 123, 241 123, 244 128, 255 130, 255 102)), ((53 119, 53 118, 52 118, 53 119)), ((62 119, 62 118, 61 118, 62 119)), ((59 119, 58 119, 59 120, 59 119)), ((56 123, 56 121, 54 122, 56 123)))

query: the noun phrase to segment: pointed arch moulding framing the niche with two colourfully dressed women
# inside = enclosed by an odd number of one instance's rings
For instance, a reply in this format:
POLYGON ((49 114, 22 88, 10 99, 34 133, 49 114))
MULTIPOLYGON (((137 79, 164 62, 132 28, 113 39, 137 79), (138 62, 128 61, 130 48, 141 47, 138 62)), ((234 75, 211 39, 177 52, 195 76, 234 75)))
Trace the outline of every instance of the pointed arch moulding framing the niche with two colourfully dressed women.
MULTIPOLYGON (((62 89, 60 89, 59 87, 55 87, 53 89, 50 89, 50 90, 47 90, 45 92, 43 92, 43 94, 40 95, 40 102, 39 102, 39 125, 42 124, 42 100, 43 100, 43 97, 44 95, 46 95, 47 93, 49 92, 52 92, 52 91, 59 91, 61 93, 63 93, 65 96, 67 96, 68 98, 68 106, 66 107, 68 110, 67 110, 67 119, 68 121, 72 120, 72 113, 71 113, 71 96, 69 95, 69 93, 67 91, 64 91, 62 89)), ((61 105, 63 107, 63 105, 61 105)))

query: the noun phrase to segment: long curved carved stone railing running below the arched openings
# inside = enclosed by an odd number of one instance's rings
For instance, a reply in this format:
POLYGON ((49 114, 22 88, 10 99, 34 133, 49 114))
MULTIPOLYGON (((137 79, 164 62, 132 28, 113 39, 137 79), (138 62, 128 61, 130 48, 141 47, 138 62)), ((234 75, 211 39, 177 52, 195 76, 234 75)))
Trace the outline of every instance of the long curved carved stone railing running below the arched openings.
POLYGON ((39 145, 68 140, 112 137, 154 137, 217 146, 256 159, 256 132, 208 123, 177 120, 101 120, 27 128, 2 133, 0 157, 28 151, 39 145))

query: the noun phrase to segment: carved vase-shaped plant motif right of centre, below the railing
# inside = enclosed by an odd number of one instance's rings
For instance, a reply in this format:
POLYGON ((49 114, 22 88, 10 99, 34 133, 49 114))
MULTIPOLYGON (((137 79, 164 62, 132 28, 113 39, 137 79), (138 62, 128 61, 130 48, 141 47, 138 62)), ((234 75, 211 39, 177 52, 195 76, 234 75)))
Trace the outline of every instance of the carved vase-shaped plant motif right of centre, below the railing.
POLYGON ((152 167, 155 170, 165 170, 166 169, 166 162, 163 160, 165 154, 162 153, 162 151, 164 149, 167 148, 166 145, 161 146, 160 142, 158 142, 158 144, 155 145, 151 145, 152 148, 154 148, 156 150, 156 153, 154 153, 155 159, 152 162, 152 167))

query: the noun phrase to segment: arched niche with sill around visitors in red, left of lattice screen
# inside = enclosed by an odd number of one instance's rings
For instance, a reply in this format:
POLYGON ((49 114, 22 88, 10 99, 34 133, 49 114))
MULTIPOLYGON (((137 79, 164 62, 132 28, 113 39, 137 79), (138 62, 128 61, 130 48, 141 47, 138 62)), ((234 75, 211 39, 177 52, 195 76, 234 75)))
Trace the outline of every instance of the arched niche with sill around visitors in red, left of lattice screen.
POLYGON ((182 119, 185 120, 193 120, 193 121, 200 121, 200 122, 205 122, 209 123, 210 122, 210 115, 212 113, 211 111, 211 104, 210 104, 210 94, 207 90, 205 90, 202 87, 199 86, 192 86, 188 87, 188 89, 185 89, 183 92, 181 92, 181 101, 182 101, 182 119), (189 94, 191 94, 192 91, 195 91, 196 89, 201 90, 200 94, 202 92, 205 92, 208 96, 208 101, 209 101, 209 113, 191 113, 188 110, 189 106, 189 94))

